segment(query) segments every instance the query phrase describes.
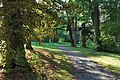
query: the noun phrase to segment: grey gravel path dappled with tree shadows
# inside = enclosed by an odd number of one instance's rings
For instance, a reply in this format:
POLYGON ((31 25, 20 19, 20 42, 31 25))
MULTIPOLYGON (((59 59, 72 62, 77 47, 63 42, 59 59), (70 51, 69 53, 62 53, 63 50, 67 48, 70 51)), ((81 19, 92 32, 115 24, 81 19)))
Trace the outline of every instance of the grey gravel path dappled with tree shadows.
POLYGON ((73 63, 76 77, 74 80, 120 80, 116 79, 115 76, 101 65, 93 62, 79 52, 71 51, 63 46, 60 46, 59 49, 63 50, 73 63))

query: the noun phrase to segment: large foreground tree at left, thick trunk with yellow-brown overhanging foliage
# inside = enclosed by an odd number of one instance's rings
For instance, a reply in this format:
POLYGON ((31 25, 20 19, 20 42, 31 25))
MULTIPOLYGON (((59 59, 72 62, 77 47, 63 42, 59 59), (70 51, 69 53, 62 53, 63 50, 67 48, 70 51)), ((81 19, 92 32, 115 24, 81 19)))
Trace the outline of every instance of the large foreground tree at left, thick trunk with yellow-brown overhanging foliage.
POLYGON ((55 21, 57 19, 57 9, 59 9, 59 0, 44 0, 43 3, 37 3, 35 0, 2 0, 1 2, 3 4, 3 7, 0 8, 3 18, 2 28, 5 29, 4 40, 6 43, 5 68, 26 67, 27 61, 24 49, 26 36, 28 36, 28 45, 31 45, 30 36, 26 35, 25 32, 28 30, 34 32, 34 28, 38 28, 38 26, 41 29, 42 21, 50 22, 49 24, 53 22, 50 20, 54 19, 55 21))

